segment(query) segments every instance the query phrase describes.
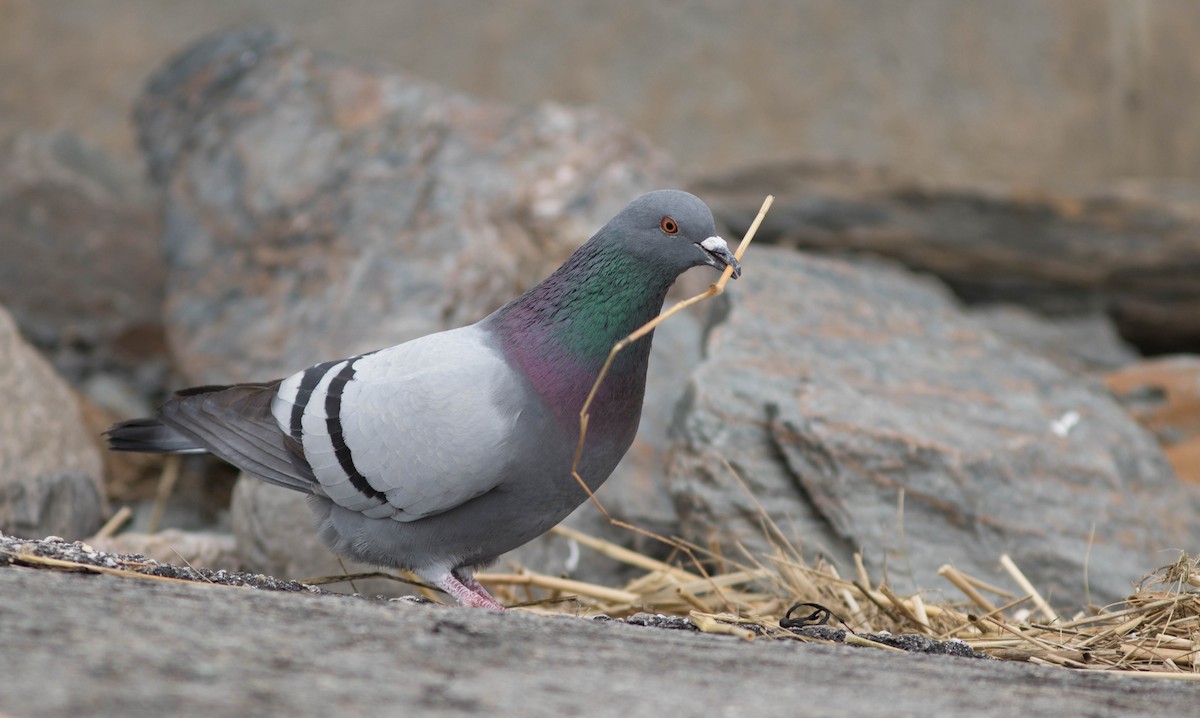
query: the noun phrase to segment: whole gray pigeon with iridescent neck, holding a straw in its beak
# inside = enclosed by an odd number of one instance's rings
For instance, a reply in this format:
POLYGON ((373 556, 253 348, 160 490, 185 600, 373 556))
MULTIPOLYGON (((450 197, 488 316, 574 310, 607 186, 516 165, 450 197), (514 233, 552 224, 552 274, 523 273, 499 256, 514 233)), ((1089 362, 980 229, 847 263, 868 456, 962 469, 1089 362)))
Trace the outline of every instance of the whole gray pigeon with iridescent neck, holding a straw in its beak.
MULTIPOLYGON (((613 345, 700 265, 742 271, 708 205, 649 192, 475 324, 274 382, 185 389, 110 427, 108 444, 214 454, 308 495, 335 554, 503 610, 474 572, 587 501, 571 467, 588 393, 613 345)), ((590 491, 634 441, 650 339, 617 354, 589 406, 578 473, 590 491)))

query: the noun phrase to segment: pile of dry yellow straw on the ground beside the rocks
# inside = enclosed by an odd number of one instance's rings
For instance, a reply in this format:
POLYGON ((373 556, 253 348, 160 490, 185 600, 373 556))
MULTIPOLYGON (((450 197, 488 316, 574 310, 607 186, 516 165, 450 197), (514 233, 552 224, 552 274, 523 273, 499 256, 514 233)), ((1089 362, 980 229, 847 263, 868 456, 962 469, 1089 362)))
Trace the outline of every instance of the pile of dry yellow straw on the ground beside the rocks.
POLYGON ((810 566, 781 540, 769 556, 746 554, 737 561, 674 542, 679 560, 666 563, 570 528, 553 531, 644 573, 620 587, 526 570, 479 578, 508 603, 536 611, 688 616, 709 633, 815 640, 780 627, 780 620, 796 604, 817 604, 828 610, 829 624, 840 622, 851 632, 847 642, 872 644, 854 634, 916 633, 956 639, 1008 660, 1200 680, 1200 557, 1184 555, 1159 568, 1118 604, 1064 618, 1007 556, 1000 563, 1018 592, 946 566, 940 575, 947 588, 965 598, 926 603, 919 594, 900 597, 886 581, 872 581, 862 562, 854 575, 842 576, 830 564, 810 566))

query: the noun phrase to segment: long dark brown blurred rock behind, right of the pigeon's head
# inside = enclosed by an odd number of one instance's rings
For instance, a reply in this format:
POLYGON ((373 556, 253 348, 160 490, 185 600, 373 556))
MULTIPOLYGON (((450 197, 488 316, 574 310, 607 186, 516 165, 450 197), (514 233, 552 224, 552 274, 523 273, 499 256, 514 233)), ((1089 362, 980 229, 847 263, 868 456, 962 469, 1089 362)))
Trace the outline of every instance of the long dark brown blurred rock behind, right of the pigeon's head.
POLYGON ((936 274, 970 303, 1048 315, 1105 312, 1144 351, 1200 346, 1200 203, 1112 185, 931 185, 848 163, 757 166, 696 183, 719 220, 760 239, 871 253, 936 274))

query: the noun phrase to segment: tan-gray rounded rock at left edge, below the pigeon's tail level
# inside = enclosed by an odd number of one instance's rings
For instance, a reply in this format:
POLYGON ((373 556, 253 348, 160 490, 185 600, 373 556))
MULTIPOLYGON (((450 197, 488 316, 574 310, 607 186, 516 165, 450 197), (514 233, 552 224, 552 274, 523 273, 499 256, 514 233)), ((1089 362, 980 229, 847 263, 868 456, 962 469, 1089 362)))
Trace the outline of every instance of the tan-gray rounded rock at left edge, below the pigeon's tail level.
POLYGON ((0 307, 0 532, 68 539, 107 513, 100 451, 79 405, 0 307))

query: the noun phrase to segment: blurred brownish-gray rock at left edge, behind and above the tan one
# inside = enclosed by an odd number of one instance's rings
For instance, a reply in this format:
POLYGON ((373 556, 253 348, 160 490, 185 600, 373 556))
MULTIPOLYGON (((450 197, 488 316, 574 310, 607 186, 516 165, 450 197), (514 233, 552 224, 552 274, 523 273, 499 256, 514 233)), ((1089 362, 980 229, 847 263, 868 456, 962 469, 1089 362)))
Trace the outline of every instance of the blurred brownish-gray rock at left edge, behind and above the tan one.
POLYGON ((136 175, 72 134, 19 133, 0 145, 0 304, 67 381, 161 384, 166 267, 136 175))

